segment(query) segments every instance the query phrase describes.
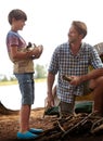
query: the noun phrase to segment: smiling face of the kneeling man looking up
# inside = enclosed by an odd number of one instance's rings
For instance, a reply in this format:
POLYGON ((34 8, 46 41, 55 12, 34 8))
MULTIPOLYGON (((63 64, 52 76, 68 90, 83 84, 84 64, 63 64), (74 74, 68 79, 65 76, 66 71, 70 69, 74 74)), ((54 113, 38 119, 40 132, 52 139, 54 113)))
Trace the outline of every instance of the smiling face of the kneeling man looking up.
POLYGON ((69 43, 75 43, 80 39, 79 33, 76 30, 76 28, 72 25, 68 31, 68 41, 69 43))

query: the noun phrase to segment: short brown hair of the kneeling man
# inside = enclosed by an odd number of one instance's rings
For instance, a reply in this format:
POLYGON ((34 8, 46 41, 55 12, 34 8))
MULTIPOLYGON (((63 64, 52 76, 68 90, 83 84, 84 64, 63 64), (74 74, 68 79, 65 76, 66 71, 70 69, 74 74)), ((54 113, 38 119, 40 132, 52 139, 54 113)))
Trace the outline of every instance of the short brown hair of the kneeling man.
POLYGON ((82 35, 82 38, 86 37, 87 35, 87 26, 83 22, 80 22, 80 21, 73 21, 72 23, 73 26, 75 26, 76 30, 82 35))

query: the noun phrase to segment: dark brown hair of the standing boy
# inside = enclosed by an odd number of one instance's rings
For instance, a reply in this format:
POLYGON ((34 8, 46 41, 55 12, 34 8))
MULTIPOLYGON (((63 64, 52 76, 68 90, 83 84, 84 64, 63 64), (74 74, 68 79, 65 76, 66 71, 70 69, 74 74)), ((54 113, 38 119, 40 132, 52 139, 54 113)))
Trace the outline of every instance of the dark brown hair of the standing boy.
POLYGON ((20 21, 20 20, 27 21, 27 15, 24 11, 15 9, 9 13, 8 20, 9 20, 10 25, 12 24, 13 18, 15 18, 16 21, 20 21))

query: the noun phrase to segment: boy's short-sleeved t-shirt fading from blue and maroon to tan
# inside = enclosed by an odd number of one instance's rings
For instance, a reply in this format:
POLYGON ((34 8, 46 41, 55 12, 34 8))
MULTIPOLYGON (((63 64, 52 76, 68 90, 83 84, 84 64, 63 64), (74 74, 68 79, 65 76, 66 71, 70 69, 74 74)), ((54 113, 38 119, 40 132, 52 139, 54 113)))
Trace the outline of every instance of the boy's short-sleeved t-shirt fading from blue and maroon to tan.
POLYGON ((7 35, 7 48, 8 53, 10 56, 10 60, 13 62, 13 73, 34 73, 34 62, 31 59, 24 59, 24 60, 13 60, 11 55, 10 48, 17 47, 17 50, 20 52, 25 51, 26 49, 26 42, 25 40, 15 31, 9 31, 7 35))

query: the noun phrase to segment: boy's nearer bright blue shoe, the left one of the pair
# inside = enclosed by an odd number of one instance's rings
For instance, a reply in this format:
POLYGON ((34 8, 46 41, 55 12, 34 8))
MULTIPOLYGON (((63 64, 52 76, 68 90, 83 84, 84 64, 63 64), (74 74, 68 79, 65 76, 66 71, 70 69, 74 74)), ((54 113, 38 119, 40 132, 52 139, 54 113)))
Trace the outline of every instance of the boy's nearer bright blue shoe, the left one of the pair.
POLYGON ((34 134, 29 131, 26 131, 25 133, 17 132, 17 139, 35 139, 38 134, 34 134))

